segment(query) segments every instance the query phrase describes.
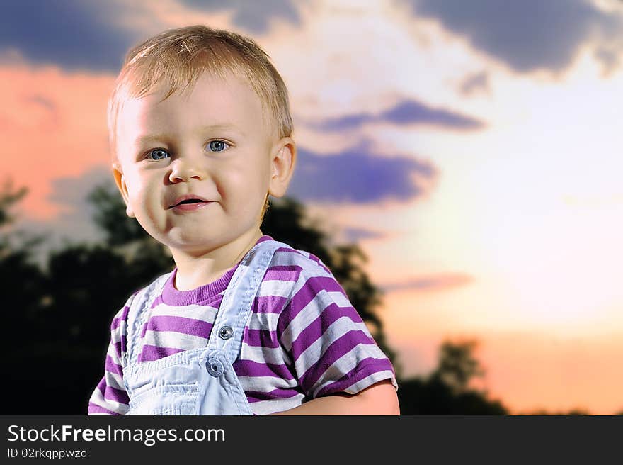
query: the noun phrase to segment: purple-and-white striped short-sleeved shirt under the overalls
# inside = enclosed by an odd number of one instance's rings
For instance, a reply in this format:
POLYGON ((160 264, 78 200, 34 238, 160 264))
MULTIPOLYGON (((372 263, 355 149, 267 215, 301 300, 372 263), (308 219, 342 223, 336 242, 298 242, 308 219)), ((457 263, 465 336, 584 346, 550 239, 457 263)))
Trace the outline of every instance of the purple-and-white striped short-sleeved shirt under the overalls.
MULTIPOLYGON (((258 242, 264 240, 273 238, 264 235, 258 242)), ((174 270, 142 328, 138 362, 205 347, 236 267, 192 291, 175 288, 174 270)), ((110 325, 104 376, 89 400, 89 415, 129 410, 121 366, 127 341, 120 322, 127 320, 135 295, 110 325)), ((314 254, 292 247, 280 247, 273 255, 233 366, 256 415, 331 393, 358 393, 385 379, 397 388, 391 362, 331 271, 314 254)))

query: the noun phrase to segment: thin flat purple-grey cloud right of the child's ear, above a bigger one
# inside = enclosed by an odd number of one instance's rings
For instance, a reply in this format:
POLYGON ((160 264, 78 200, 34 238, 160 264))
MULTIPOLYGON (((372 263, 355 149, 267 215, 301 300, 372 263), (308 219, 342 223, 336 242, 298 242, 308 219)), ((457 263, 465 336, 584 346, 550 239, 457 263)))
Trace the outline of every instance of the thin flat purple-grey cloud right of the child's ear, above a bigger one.
POLYGON ((484 123, 471 116, 459 113, 430 108, 414 100, 404 100, 395 106, 376 115, 371 113, 357 113, 328 118, 320 123, 311 123, 312 128, 319 130, 348 130, 358 128, 365 123, 393 123, 397 125, 426 124, 442 128, 474 130, 484 127, 484 123))

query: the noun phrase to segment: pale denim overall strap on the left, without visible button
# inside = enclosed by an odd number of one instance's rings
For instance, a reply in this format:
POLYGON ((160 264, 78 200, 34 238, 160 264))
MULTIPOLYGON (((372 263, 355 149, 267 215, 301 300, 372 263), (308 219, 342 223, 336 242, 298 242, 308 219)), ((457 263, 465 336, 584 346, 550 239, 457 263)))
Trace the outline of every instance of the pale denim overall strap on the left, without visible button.
MULTIPOLYGON (((171 271, 172 273, 172 271, 171 271)), ((171 273, 163 274, 159 276, 152 284, 142 288, 135 298, 132 299, 130 304, 130 310, 127 313, 127 344, 125 352, 125 364, 129 366, 137 363, 139 356, 139 339, 140 332, 145 323, 147 315, 149 315, 149 308, 152 308, 152 303, 156 300, 156 297, 162 293, 164 284, 168 280, 171 273)), ((122 357, 122 362, 124 359, 122 357)))

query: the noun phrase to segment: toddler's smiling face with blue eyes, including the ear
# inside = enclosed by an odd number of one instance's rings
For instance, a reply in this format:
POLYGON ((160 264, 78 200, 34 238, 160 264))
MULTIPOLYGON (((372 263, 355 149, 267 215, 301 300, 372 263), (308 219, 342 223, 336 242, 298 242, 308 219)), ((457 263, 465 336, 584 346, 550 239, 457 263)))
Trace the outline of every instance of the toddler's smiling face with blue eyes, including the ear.
POLYGON ((159 89, 127 101, 118 118, 115 180, 127 214, 173 252, 259 230, 266 194, 287 188, 290 175, 275 172, 284 169, 279 157, 293 164, 293 141, 278 140, 257 94, 236 77, 203 74, 190 91, 163 97, 159 89), (179 204, 182 196, 203 201, 179 204))

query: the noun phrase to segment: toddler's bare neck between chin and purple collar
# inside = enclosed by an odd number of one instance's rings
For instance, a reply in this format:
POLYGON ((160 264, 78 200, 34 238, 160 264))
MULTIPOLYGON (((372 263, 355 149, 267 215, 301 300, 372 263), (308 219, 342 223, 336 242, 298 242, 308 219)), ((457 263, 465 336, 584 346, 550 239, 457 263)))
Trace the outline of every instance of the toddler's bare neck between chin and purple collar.
POLYGON ((257 228, 201 254, 171 250, 178 269, 174 283, 176 289, 190 291, 216 281, 235 267, 260 237, 262 232, 257 228))

